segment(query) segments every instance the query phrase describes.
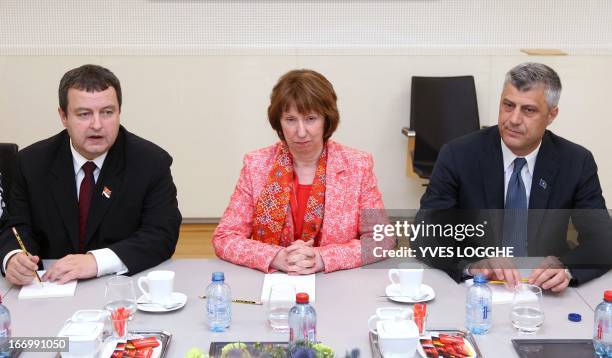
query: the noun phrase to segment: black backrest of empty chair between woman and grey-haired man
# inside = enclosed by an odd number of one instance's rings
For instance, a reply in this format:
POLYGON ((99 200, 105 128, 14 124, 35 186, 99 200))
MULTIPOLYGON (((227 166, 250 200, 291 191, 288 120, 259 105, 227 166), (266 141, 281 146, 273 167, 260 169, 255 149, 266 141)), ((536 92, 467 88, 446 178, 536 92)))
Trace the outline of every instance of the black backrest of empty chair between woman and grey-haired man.
POLYGON ((416 132, 413 169, 429 178, 444 144, 480 128, 474 77, 413 76, 410 128, 416 132))

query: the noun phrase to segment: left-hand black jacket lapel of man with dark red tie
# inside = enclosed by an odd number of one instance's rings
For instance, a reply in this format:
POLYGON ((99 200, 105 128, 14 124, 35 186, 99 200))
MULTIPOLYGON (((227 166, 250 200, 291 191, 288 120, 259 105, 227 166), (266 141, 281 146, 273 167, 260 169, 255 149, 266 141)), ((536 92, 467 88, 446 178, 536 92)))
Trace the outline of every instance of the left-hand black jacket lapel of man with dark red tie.
POLYGON ((76 195, 74 163, 67 133, 51 167, 51 174, 53 175, 51 192, 58 212, 64 221, 74 252, 79 252, 79 206, 76 195))

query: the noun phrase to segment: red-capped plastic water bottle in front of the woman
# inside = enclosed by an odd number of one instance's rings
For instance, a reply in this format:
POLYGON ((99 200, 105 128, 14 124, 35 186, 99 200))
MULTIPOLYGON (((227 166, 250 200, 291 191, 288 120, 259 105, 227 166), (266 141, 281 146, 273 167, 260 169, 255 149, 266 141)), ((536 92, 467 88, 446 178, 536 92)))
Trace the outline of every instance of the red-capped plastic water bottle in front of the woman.
POLYGON ((307 293, 295 295, 295 306, 289 310, 289 343, 317 342, 317 313, 308 302, 307 293))

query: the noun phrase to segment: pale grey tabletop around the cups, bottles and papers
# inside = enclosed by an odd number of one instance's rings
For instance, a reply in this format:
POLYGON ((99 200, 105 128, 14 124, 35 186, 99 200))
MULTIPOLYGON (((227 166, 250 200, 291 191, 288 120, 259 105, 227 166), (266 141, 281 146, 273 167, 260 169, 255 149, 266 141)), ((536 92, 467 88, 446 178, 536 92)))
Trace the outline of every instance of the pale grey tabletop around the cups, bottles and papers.
MULTIPOLYGON (((265 306, 233 304, 232 324, 227 332, 213 333, 204 318, 204 293, 213 271, 224 271, 234 298, 258 300, 264 274, 221 260, 169 260, 151 270, 176 272, 174 289, 187 295, 187 305, 169 313, 138 311, 130 329, 165 330, 173 334, 169 357, 183 357, 192 347, 207 352, 211 341, 283 341, 286 334, 272 331, 266 323, 265 306)), ((145 271, 135 277, 145 275, 145 271)), ((493 307, 493 328, 476 341, 485 357, 516 357, 512 338, 575 338, 590 339, 593 307, 601 301, 604 286, 610 286, 612 272, 580 289, 570 288, 561 294, 545 294, 545 322, 531 336, 517 334, 511 326, 510 305, 493 307), (577 312, 582 322, 574 323, 567 314, 577 312)), ((13 336, 55 336, 64 321, 77 310, 102 309, 106 278, 80 281, 74 297, 19 300, 19 289, 11 289, 5 305, 12 316, 13 336)), ((462 328, 465 316, 466 287, 457 284, 445 273, 426 269, 423 282, 431 286, 436 297, 428 304, 429 328, 462 328)), ((371 356, 368 340, 368 318, 377 307, 402 306, 384 295, 389 284, 387 270, 358 268, 316 275, 317 338, 331 346, 339 356, 346 350, 359 348, 362 357, 371 356)), ((609 287, 608 287, 609 288, 609 287)), ((136 290, 138 290, 136 288, 136 290)), ((24 357, 52 356, 26 353, 24 357)))

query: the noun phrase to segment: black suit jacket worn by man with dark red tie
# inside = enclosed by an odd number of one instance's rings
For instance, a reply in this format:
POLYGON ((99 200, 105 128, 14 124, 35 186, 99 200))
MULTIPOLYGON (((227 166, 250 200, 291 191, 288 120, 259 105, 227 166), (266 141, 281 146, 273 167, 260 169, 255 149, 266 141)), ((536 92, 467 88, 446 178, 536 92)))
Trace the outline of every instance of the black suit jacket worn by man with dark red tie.
MULTIPOLYGON (((17 156, 9 218, 0 236, 0 260, 17 249, 11 226, 26 248, 44 259, 78 253, 79 211, 70 139, 64 130, 17 156)), ((170 258, 181 214, 172 158, 121 127, 96 182, 85 250, 109 248, 135 274, 170 258), (110 198, 102 195, 108 188, 110 198)))

